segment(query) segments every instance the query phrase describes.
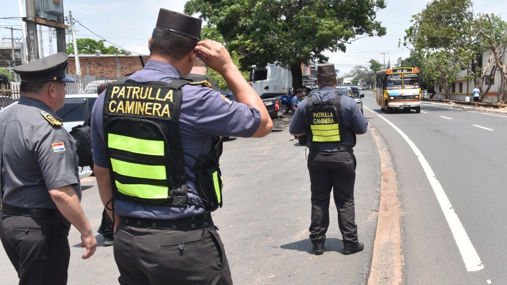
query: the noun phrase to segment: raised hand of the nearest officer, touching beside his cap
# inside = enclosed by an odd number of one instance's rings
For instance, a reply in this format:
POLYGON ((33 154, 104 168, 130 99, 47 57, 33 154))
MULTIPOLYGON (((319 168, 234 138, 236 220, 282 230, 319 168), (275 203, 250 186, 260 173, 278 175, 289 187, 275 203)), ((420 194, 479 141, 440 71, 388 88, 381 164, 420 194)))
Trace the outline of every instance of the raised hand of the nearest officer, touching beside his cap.
POLYGON ((197 43, 194 51, 207 66, 221 74, 231 65, 234 66, 227 49, 214 40, 206 39, 197 43))

